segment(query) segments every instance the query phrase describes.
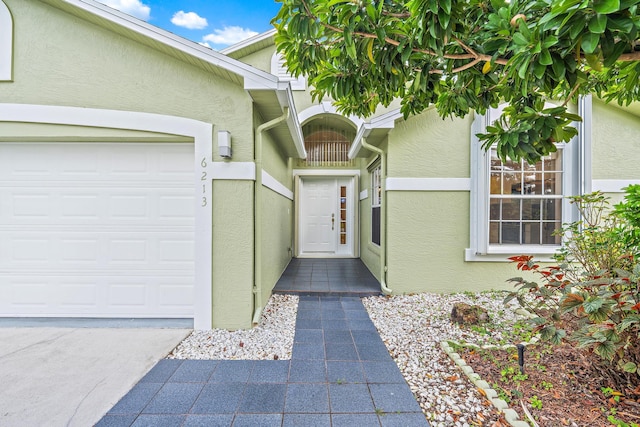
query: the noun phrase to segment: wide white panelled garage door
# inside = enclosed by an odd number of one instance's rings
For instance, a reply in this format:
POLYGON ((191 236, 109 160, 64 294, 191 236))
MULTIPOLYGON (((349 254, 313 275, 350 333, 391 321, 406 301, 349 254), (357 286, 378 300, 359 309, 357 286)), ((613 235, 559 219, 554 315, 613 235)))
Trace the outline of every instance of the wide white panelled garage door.
POLYGON ((0 316, 193 317, 193 150, 0 143, 0 316))

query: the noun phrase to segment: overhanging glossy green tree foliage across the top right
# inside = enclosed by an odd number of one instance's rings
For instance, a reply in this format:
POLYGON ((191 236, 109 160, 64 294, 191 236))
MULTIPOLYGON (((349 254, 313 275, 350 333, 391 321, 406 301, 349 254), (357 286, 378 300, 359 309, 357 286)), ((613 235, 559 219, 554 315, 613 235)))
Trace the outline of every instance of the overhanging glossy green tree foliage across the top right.
POLYGON ((575 136, 577 95, 640 100, 640 0, 278 1, 277 49, 315 98, 364 117, 394 99, 405 117, 505 102, 480 137, 503 158, 534 162, 575 136))

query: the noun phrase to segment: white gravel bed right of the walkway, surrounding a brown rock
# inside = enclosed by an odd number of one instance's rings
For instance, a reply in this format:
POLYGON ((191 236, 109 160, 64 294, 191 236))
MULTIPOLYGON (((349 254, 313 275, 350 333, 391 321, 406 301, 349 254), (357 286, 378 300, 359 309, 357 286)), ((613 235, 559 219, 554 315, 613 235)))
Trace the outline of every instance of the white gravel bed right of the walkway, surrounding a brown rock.
POLYGON ((478 393, 440 348, 440 341, 478 345, 503 342, 519 318, 517 303, 505 307, 504 294, 415 294, 363 299, 371 320, 402 371, 427 420, 435 426, 491 425, 497 411, 478 393), (449 316, 456 302, 481 305, 498 328, 488 333, 464 330, 449 316))

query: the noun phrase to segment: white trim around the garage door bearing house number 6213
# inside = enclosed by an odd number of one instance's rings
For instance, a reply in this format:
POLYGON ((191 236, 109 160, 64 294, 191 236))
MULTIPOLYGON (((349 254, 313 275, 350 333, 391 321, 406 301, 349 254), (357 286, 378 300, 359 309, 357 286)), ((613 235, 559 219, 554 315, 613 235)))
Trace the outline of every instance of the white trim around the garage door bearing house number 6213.
MULTIPOLYGON (((0 122, 49 123, 128 129, 182 135, 194 139, 194 171, 196 194, 203 189, 206 203, 196 197, 195 209, 195 291, 194 329, 211 329, 212 321, 212 204, 211 179, 202 180, 200 173, 211 172, 213 125, 183 117, 136 111, 101 110, 94 108, 51 105, 1 104, 0 122), (199 173, 200 172, 200 173, 199 173), (204 205, 204 206, 203 206, 204 205)), ((255 174, 255 169, 254 169, 255 174)), ((206 176, 206 175, 205 175, 206 176)))

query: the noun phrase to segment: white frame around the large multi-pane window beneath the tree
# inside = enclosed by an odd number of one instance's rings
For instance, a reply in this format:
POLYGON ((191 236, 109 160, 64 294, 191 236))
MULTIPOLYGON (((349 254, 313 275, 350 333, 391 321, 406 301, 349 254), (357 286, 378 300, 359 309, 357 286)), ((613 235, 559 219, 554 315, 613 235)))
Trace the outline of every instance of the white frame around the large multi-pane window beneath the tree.
MULTIPOLYGON (((470 247, 465 251, 466 261, 508 261, 512 255, 533 255, 541 261, 551 261, 560 245, 543 244, 490 244, 489 243, 489 197, 491 179, 491 154, 482 148, 476 136, 484 133, 486 127, 495 120, 501 109, 490 114, 477 114, 471 127, 471 200, 470 200, 470 247)), ((584 118, 587 120, 587 118, 584 118)), ((581 136, 568 144, 558 144, 562 155, 562 217, 561 222, 576 220, 576 209, 567 196, 581 193, 580 189, 580 147, 581 136)))

